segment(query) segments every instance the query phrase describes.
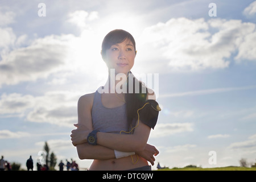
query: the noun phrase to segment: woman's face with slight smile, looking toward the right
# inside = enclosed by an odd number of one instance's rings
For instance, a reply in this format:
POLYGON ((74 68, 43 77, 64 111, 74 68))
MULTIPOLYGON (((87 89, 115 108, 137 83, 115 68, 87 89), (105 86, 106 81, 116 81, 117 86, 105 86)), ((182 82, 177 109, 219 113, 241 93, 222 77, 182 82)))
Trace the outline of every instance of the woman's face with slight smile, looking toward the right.
POLYGON ((115 74, 127 74, 133 68, 135 56, 133 43, 125 39, 122 43, 114 44, 106 50, 104 60, 109 69, 115 69, 115 74))

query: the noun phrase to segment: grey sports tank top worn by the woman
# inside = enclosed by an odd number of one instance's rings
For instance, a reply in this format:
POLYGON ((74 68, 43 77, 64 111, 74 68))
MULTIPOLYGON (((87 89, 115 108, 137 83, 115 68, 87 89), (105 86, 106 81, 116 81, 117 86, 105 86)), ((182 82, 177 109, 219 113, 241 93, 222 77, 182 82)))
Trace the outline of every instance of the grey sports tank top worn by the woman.
POLYGON ((101 93, 97 90, 93 98, 92 123, 93 130, 104 133, 119 134, 122 130, 127 131, 126 104, 114 108, 105 107, 101 102, 101 93))

